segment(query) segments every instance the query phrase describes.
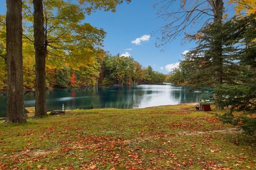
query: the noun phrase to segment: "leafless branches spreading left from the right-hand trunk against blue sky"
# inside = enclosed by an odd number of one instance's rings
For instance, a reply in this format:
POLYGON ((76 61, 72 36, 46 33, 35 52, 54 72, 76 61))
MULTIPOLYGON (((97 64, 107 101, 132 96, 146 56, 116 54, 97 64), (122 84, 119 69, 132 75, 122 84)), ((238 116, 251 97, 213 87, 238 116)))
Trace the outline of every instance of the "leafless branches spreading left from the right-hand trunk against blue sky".
POLYGON ((158 46, 170 43, 193 23, 201 22, 200 25, 202 26, 200 26, 199 30, 205 27, 207 23, 215 18, 213 11, 213 8, 215 7, 213 5, 215 4, 212 4, 213 1, 214 0, 202 0, 191 3, 191 1, 187 0, 161 0, 155 4, 155 6, 161 6, 157 13, 158 17, 165 20, 169 20, 169 18, 172 19, 170 23, 160 28, 162 38, 158 46), (180 3, 178 9, 175 9, 175 3, 180 3), (191 7, 190 9, 187 9, 188 5, 191 7))

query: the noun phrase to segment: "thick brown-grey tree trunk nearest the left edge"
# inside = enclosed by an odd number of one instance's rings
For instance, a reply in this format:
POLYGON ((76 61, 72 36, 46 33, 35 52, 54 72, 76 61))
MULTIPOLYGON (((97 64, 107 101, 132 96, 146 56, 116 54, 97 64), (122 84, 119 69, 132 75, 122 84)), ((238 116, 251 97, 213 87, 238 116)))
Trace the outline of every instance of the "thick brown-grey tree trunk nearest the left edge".
POLYGON ((7 114, 6 123, 26 122, 23 105, 22 2, 6 0, 7 114))

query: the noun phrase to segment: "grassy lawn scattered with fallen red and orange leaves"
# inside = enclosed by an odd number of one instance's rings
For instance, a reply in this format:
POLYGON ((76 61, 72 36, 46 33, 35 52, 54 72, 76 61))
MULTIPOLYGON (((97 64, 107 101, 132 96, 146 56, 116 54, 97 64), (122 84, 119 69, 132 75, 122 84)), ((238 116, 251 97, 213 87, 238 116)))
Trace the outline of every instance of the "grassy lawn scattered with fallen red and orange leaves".
POLYGON ((0 169, 256 169, 256 138, 193 105, 0 122, 0 169))

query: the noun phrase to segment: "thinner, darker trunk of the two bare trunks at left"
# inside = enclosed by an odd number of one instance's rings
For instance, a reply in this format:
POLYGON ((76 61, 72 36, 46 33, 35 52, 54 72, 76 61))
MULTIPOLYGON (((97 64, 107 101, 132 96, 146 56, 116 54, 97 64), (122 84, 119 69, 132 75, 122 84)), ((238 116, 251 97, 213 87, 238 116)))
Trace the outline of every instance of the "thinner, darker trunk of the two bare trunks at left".
POLYGON ((44 34, 44 15, 43 15, 43 1, 34 0, 34 48, 36 58, 36 106, 35 117, 42 117, 46 115, 46 99, 45 99, 45 58, 46 45, 44 34))

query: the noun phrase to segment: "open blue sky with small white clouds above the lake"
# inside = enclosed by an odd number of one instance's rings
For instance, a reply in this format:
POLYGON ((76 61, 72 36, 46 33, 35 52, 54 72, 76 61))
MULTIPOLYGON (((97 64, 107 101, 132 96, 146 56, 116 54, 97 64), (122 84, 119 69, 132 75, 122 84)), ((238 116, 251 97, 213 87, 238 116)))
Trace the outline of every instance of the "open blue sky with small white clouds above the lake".
MULTIPOLYGON (((86 16, 84 22, 103 28, 107 32, 103 49, 109 51, 111 55, 128 54, 144 67, 151 65, 156 71, 169 73, 172 64, 182 60, 181 53, 195 47, 195 44, 181 45, 183 38, 181 36, 163 48, 155 46, 156 37, 160 34, 159 28, 166 24, 156 14, 157 9, 154 8, 156 2, 156 0, 133 0, 130 4, 119 5, 115 13, 94 12, 86 16), (164 49, 164 52, 161 49, 164 49)), ((0 0, 0 10, 1 13, 6 11, 3 0, 0 0)))

